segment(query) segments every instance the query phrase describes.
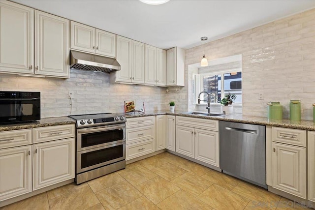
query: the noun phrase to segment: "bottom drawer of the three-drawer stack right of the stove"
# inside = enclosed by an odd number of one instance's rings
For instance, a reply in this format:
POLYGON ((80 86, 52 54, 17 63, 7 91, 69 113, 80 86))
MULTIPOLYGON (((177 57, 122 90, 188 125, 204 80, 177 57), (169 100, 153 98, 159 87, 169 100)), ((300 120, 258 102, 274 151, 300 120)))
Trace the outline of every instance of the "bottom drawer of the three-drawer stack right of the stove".
POLYGON ((126 160, 152 153, 156 150, 154 139, 126 145, 126 160))

